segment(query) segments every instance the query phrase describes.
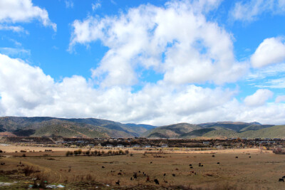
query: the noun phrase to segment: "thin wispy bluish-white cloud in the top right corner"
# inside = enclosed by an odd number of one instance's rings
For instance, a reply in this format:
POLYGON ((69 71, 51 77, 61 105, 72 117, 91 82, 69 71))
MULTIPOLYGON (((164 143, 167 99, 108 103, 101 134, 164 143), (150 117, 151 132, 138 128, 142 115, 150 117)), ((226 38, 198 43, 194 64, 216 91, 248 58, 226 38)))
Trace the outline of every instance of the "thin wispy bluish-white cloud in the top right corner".
POLYGON ((238 1, 229 14, 234 20, 254 21, 263 13, 284 14, 284 10, 284 0, 250 0, 238 1))

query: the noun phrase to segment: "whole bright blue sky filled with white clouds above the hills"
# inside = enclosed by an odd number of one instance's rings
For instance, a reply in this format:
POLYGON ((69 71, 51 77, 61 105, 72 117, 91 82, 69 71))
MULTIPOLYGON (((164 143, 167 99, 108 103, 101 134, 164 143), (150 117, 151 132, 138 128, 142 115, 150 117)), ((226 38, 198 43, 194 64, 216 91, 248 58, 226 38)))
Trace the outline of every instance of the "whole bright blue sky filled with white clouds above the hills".
POLYGON ((0 0, 0 116, 285 124, 285 0, 0 0))

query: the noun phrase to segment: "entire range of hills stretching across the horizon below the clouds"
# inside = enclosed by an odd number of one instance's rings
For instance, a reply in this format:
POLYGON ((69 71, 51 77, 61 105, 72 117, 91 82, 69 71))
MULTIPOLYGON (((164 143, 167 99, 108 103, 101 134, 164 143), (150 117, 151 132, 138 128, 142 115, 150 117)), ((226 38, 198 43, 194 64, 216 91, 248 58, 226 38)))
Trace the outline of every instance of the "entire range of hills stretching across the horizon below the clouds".
POLYGON ((95 118, 0 117, 0 136, 24 137, 147 137, 190 139, 205 138, 284 138, 285 125, 259 122, 209 122, 199 125, 178 123, 156 127, 123 124, 95 118))

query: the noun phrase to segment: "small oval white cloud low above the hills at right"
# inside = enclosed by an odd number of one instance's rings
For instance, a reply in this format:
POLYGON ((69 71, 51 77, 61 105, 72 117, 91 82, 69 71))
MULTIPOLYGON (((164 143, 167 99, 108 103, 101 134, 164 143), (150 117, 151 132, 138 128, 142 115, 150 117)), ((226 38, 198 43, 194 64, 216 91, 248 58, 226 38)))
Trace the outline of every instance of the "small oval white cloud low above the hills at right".
POLYGON ((264 105, 265 102, 273 96, 273 93, 267 89, 259 89, 253 95, 244 98, 244 103, 250 107, 264 105))

